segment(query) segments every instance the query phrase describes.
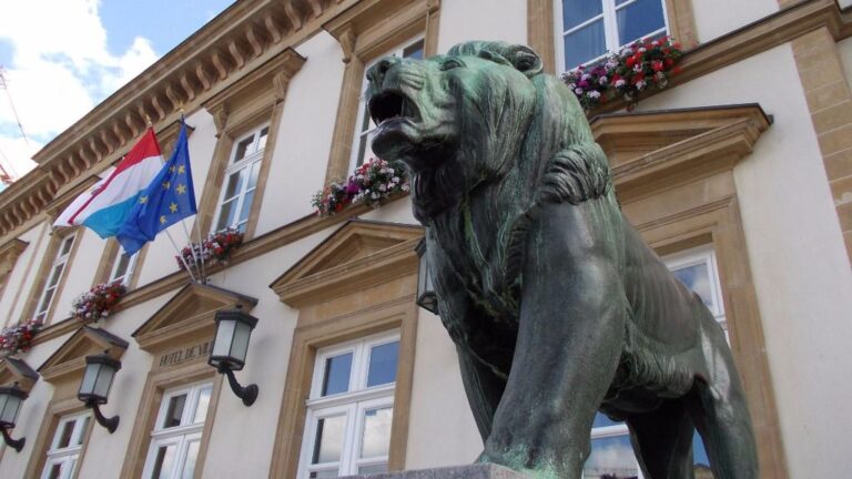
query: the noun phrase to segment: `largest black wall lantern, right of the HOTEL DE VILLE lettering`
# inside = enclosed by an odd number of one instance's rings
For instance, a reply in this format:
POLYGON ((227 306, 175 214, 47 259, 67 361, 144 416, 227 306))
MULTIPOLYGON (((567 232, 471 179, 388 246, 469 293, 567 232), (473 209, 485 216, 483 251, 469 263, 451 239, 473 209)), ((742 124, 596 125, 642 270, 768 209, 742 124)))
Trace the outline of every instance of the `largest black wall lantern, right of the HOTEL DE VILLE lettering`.
POLYGON ((251 406, 257 399, 257 385, 240 386, 234 371, 245 366, 248 339, 252 337, 252 329, 257 326, 257 318, 243 313, 241 305, 236 305, 234 309, 216 312, 215 322, 216 337, 207 364, 220 374, 226 375, 234 394, 245 406, 251 406))

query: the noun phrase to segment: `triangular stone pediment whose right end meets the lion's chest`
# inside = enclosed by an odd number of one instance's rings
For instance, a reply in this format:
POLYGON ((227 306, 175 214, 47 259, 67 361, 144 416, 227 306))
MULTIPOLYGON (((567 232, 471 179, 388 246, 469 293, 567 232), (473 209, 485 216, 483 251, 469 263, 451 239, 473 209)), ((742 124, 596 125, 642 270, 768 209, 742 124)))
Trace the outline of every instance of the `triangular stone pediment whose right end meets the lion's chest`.
POLYGON ((417 225, 349 220, 270 287, 291 305, 338 296, 416 272, 417 225))

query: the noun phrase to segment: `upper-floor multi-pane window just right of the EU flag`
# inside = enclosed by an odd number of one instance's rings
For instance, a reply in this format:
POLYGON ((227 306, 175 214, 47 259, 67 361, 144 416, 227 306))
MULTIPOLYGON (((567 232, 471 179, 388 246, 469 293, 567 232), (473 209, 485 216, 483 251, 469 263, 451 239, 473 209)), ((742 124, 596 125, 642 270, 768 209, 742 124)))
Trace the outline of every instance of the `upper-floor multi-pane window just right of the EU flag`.
POLYGON ((267 124, 234 142, 231 161, 225 170, 225 187, 213 222, 214 232, 227 227, 245 232, 268 134, 270 125, 267 124))

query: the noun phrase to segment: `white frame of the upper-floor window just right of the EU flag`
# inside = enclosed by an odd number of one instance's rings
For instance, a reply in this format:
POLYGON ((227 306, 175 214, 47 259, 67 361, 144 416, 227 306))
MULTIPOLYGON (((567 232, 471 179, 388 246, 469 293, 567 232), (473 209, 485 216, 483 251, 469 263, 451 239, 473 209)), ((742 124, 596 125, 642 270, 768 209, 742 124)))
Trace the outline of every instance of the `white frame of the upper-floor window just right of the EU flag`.
MULTIPOLYGON (((264 153, 266 152, 266 145, 270 142, 271 133, 272 133, 272 128, 270 126, 270 123, 263 123, 260 126, 241 135, 236 141, 234 141, 234 144, 231 147, 231 154, 229 156, 227 167, 225 169, 225 175, 223 176, 222 192, 219 194, 219 202, 216 202, 216 214, 211 225, 211 233, 216 233, 229 227, 236 227, 243 232, 246 230, 248 225, 248 218, 251 216, 251 204, 248 205, 248 211, 246 212, 246 216, 241 217, 244 208, 243 203, 245 202, 245 197, 248 195, 248 193, 254 193, 257 191, 257 183, 260 183, 261 163, 263 161, 264 153), (266 130, 266 135, 263 136, 265 137, 263 147, 260 147, 260 142, 262 137, 261 132, 263 130, 266 130), (245 156, 243 156, 240 160, 236 160, 236 153, 240 149, 240 144, 250 137, 253 137, 252 143, 248 145, 248 151, 251 153, 246 153, 245 156), (257 182, 255 182, 254 186, 250 188, 248 183, 252 177, 252 169, 257 169, 258 179, 257 179, 257 182), (227 183, 231 179, 231 175, 242 170, 247 171, 247 174, 245 176, 245 181, 240 186, 240 191, 236 192, 235 195, 232 196, 231 198, 225 198, 225 194, 227 194, 227 183), (224 205, 226 200, 230 200, 231 202, 234 203, 233 207, 236 211, 236 215, 234 216, 235 222, 220 228, 217 227, 219 220, 222 215, 222 206, 224 205)), ((252 202, 254 201, 256 201, 256 198, 252 196, 252 202)))

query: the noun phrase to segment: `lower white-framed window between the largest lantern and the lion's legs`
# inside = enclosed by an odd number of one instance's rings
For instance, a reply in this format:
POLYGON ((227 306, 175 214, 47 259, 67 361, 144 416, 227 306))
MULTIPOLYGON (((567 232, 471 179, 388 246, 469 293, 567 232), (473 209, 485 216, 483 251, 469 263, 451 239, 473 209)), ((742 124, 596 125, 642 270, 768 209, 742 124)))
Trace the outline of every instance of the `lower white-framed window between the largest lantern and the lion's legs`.
POLYGON ((399 335, 317 351, 300 479, 387 471, 399 335))

